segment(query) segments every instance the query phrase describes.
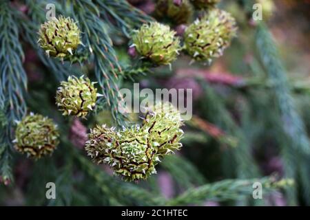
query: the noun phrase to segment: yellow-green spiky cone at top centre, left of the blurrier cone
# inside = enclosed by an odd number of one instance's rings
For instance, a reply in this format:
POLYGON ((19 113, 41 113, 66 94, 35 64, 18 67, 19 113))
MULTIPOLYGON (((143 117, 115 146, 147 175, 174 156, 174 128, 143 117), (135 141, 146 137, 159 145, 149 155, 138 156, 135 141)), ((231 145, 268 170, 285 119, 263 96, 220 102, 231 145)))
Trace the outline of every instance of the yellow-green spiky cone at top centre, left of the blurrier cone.
POLYGON ((169 26, 152 22, 142 25, 132 36, 138 54, 156 65, 168 65, 176 59, 180 50, 180 40, 169 26))

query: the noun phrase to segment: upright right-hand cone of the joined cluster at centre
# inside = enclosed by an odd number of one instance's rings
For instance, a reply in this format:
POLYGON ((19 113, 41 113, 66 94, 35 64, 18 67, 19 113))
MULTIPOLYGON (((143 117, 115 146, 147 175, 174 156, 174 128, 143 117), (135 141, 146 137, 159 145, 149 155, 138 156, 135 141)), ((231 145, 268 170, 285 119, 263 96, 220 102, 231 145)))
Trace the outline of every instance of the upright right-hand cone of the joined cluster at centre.
POLYGON ((150 141, 158 148, 158 155, 163 156, 182 147, 182 125, 180 112, 171 103, 158 102, 147 111, 141 129, 149 133, 150 141))

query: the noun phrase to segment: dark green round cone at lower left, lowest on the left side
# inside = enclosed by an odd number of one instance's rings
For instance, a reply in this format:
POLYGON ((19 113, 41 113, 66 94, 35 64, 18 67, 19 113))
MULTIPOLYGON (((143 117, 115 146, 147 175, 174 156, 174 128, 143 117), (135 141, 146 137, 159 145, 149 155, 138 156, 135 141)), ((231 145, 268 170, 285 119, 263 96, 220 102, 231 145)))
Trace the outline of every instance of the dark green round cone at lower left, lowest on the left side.
POLYGON ((17 124, 14 147, 29 157, 50 155, 58 144, 59 131, 56 125, 43 115, 28 115, 17 124))

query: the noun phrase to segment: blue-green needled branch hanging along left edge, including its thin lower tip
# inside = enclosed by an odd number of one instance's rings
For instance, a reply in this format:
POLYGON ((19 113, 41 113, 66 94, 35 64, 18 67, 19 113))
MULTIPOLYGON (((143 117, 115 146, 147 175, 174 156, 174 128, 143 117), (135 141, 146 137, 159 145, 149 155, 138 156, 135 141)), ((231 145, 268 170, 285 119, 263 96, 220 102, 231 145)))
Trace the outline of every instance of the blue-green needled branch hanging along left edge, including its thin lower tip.
MULTIPOLYGON (((27 88, 27 76, 23 69, 24 54, 19 41, 17 11, 10 8, 9 1, 0 3, 0 110, 6 115, 1 129, 0 166, 1 175, 10 179, 10 153, 12 126, 25 115, 23 93, 27 88)), ((5 180, 6 181, 6 180, 5 180)))

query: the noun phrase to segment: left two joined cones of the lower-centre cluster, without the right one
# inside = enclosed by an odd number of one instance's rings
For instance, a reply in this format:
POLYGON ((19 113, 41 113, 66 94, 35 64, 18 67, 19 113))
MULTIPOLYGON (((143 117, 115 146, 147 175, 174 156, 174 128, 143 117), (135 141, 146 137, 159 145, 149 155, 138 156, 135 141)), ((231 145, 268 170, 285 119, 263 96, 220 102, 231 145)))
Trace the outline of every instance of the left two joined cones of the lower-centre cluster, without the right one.
POLYGON ((156 148, 147 140, 147 133, 132 127, 114 131, 97 126, 88 136, 85 150, 98 164, 109 164, 114 174, 126 181, 147 179, 156 173, 159 158, 156 148))

